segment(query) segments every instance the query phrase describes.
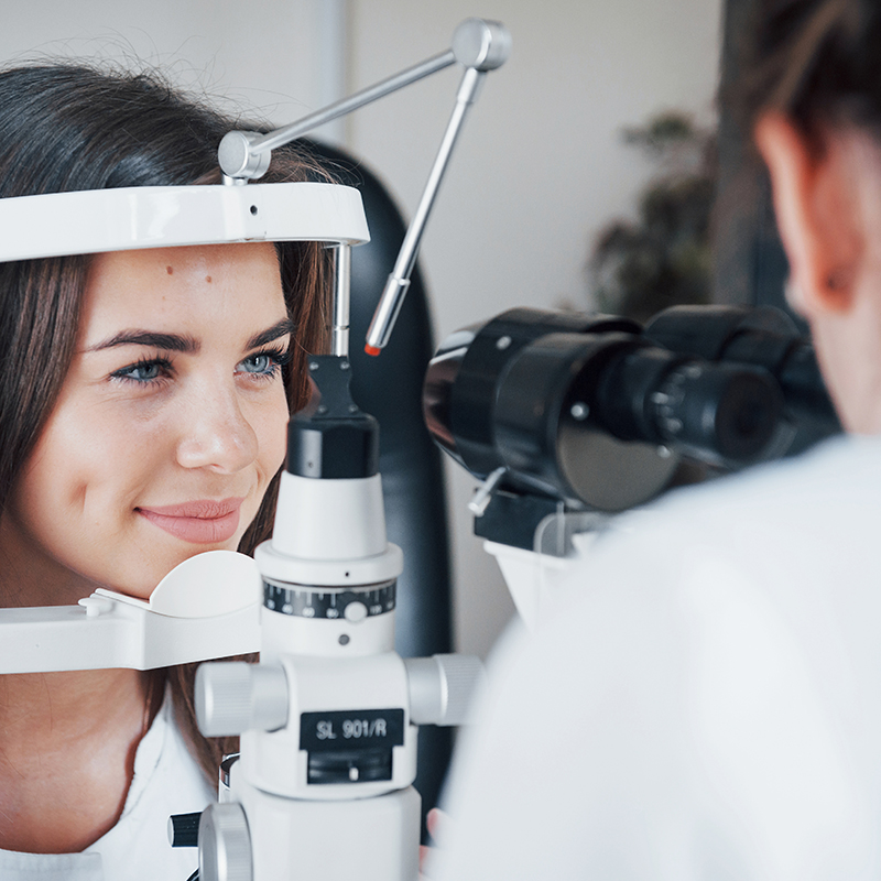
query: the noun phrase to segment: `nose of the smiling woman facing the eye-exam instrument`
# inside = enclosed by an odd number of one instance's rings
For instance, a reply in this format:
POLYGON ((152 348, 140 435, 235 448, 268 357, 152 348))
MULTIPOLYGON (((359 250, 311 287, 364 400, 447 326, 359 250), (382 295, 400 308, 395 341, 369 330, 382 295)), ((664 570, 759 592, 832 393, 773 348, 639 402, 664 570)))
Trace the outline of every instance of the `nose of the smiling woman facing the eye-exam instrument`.
POLYGON ((257 458, 258 438, 235 390, 214 388, 194 398, 183 407, 178 464, 224 474, 248 467, 257 458))

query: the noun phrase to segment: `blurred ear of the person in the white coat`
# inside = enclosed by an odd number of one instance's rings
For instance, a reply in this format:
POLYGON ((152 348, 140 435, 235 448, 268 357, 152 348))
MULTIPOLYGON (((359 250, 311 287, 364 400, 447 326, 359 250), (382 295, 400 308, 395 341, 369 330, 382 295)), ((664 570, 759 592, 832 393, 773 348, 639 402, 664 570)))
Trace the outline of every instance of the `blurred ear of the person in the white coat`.
MULTIPOLYGON (((829 129, 822 140, 806 135, 787 117, 763 113, 755 143, 771 174, 774 210, 805 317, 848 312, 866 255, 867 214, 862 202, 869 161, 856 131, 829 129)), ((864 135, 863 135, 864 137, 864 135)))

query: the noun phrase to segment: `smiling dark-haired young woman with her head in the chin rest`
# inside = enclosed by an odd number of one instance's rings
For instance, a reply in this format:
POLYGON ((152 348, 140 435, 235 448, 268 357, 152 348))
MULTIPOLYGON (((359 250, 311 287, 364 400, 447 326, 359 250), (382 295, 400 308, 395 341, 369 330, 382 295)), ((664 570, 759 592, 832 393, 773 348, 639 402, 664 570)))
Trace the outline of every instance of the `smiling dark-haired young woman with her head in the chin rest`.
MULTIPOLYGON (((154 76, 0 72, 0 197, 217 183, 237 127, 154 76)), ((316 173, 283 150, 264 181, 316 173)), ((312 243, 0 263, 0 605, 145 598, 268 537, 323 267, 312 243)), ((167 817, 213 798, 229 746, 198 733, 193 676, 0 676, 0 878, 186 881, 167 817)))

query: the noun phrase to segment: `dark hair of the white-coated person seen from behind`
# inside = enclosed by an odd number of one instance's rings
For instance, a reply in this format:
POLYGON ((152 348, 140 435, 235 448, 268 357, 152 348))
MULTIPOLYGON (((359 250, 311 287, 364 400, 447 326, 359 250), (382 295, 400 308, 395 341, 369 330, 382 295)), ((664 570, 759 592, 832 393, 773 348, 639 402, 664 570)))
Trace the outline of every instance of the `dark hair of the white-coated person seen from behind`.
POLYGON ((727 101, 744 131, 785 113, 822 144, 825 128, 857 126, 881 140, 881 3, 753 0, 727 101))

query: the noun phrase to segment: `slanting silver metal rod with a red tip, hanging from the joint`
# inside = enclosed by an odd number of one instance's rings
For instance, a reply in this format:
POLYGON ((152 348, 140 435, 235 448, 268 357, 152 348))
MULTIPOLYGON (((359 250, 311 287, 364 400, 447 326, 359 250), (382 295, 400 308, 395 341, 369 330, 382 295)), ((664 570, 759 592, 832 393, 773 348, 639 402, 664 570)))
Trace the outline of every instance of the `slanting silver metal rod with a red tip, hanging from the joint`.
POLYGON ((380 349, 385 347, 394 323, 398 320, 398 314, 401 312, 401 306, 410 287, 410 275, 416 263, 422 233, 425 231, 425 225, 428 222, 428 216, 434 207, 440 182, 444 180, 444 173, 449 164, 453 148, 456 145, 456 140, 461 131, 465 115, 475 102, 478 88, 485 76, 486 73, 483 70, 478 70, 475 67, 467 68, 463 76, 459 91, 456 95, 456 106, 453 109, 440 148, 428 174, 428 181, 425 184, 422 198, 398 253, 394 269, 385 282, 382 297, 367 331, 366 349, 369 355, 378 355, 380 349))

